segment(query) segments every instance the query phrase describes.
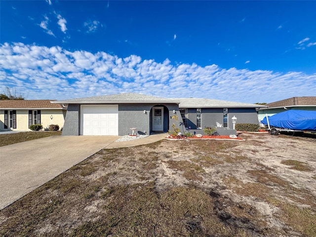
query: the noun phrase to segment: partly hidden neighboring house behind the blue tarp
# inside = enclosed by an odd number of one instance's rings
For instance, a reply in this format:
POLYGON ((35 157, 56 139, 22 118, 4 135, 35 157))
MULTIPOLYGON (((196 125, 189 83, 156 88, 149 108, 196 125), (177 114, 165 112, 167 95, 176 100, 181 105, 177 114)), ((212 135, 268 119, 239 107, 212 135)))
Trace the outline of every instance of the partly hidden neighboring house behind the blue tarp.
POLYGON ((261 121, 266 114, 273 116, 286 110, 315 110, 316 111, 316 96, 310 97, 292 97, 285 100, 279 100, 266 104, 267 108, 259 108, 258 118, 261 121))

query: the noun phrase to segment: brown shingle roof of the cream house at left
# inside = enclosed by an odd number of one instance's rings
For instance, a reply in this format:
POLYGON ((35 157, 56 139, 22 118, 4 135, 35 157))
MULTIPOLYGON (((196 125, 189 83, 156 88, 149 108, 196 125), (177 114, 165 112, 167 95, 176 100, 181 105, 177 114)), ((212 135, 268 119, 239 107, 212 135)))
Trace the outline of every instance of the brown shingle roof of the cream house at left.
POLYGON ((0 100, 1 109, 63 109, 62 105, 50 103, 53 100, 0 100))

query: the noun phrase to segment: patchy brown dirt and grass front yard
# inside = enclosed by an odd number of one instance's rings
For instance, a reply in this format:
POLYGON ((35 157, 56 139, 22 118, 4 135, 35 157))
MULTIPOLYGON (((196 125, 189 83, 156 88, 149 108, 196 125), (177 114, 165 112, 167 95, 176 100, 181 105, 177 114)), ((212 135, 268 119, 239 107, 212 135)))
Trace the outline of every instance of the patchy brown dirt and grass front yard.
POLYGON ((0 211, 2 236, 315 237, 316 138, 102 150, 0 211))

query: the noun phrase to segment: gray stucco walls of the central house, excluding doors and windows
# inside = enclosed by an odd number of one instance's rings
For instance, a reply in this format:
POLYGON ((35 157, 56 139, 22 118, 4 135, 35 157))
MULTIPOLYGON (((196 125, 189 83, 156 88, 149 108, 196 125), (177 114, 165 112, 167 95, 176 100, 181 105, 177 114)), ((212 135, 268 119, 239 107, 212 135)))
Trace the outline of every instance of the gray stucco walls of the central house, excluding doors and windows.
MULTIPOLYGON (((185 130, 177 104, 119 104, 118 105, 118 135, 131 134, 130 128, 136 127, 138 134, 150 134, 152 132, 152 108, 154 106, 164 108, 164 132, 172 131, 172 124, 185 130), (144 114, 146 110, 146 114, 144 114), (178 121, 173 119, 173 110, 178 116, 178 121)), ((237 123, 259 124, 255 108, 229 108, 228 127, 233 128, 232 117, 237 117, 237 123)), ((188 109, 188 126, 191 132, 203 134, 206 126, 216 126, 216 122, 223 123, 223 108, 203 108, 201 114, 201 129, 197 129, 197 109, 188 109)), ((64 136, 80 135, 80 105, 69 105, 63 127, 64 136)))

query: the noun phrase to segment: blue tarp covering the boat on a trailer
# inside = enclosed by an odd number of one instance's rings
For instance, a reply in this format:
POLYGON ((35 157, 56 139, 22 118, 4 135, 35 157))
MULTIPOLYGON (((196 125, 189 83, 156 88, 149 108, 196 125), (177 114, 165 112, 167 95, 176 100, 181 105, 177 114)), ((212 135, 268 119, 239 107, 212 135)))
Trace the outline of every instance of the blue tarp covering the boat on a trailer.
MULTIPOLYGON (((268 116, 271 127, 293 130, 316 130, 316 111, 287 110, 273 116, 268 116)), ((267 117, 261 123, 268 125, 267 117)))

